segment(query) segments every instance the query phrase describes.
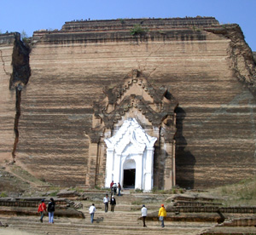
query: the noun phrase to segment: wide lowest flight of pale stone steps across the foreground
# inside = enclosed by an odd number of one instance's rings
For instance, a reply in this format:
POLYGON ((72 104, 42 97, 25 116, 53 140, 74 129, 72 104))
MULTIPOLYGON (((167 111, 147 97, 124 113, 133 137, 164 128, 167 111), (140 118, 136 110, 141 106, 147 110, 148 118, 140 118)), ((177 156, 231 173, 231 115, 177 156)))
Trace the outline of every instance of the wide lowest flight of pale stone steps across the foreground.
MULTIPOLYGON (((3 223, 9 227, 2 228, 5 234, 12 230, 31 232, 32 234, 198 234, 211 226, 209 223, 182 223, 168 222, 161 228, 158 221, 147 221, 147 227, 143 227, 142 221, 137 221, 138 214, 132 212, 102 212, 96 211, 95 221, 90 224, 90 216, 85 219, 55 218, 55 224, 49 224, 48 218, 40 223, 35 216, 1 217, 3 223)), ((0 231, 1 231, 0 230, 0 231)), ((0 233, 1 234, 1 233, 0 233)), ((10 233, 11 234, 11 233, 10 233)), ((15 233, 14 233, 15 234, 15 233)), ((17 233, 19 234, 19 233, 17 233)))

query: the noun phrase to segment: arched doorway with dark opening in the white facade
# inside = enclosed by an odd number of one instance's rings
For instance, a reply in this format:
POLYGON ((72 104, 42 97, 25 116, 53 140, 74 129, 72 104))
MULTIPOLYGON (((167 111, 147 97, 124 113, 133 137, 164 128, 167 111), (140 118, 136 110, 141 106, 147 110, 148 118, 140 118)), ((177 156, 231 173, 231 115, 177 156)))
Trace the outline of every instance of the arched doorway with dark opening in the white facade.
POLYGON ((126 160, 124 163, 123 187, 135 188, 136 163, 133 159, 126 160))

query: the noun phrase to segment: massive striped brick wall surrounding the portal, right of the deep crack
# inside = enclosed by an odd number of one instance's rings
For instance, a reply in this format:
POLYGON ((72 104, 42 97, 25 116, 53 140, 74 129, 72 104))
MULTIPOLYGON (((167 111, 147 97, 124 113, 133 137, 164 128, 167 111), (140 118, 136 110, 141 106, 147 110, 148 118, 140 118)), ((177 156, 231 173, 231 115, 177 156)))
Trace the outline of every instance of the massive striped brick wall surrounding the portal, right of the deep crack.
POLYGON ((155 86, 167 86, 179 102, 178 185, 203 188, 253 175, 251 52, 238 26, 189 20, 169 26, 151 20, 137 36, 122 20, 104 21, 105 27, 101 21, 67 22, 59 32, 35 32, 32 76, 21 95, 17 162, 59 185, 84 184, 84 130, 91 126, 92 102, 104 97, 104 86, 121 83, 137 69, 155 86))

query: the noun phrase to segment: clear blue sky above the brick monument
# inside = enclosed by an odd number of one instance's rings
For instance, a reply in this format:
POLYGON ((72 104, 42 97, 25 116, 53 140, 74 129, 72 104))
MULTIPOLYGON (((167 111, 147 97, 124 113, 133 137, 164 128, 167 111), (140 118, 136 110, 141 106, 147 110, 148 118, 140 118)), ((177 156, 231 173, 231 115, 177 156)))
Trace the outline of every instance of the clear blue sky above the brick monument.
POLYGON ((256 0, 0 0, 0 31, 61 30, 71 20, 212 16, 241 26, 256 51, 256 0))

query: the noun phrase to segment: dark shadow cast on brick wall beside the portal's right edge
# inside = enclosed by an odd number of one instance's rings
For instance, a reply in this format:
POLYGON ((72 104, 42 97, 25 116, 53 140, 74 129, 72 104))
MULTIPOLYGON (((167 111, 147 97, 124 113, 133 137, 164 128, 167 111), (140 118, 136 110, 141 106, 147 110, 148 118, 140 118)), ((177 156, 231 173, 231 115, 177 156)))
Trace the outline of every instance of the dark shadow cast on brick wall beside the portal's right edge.
POLYGON ((183 188, 194 188, 195 185, 195 156, 186 151, 187 141, 183 136, 183 120, 186 112, 182 107, 177 106, 175 109, 176 128, 176 184, 183 188))

